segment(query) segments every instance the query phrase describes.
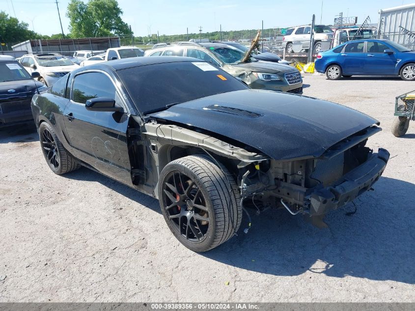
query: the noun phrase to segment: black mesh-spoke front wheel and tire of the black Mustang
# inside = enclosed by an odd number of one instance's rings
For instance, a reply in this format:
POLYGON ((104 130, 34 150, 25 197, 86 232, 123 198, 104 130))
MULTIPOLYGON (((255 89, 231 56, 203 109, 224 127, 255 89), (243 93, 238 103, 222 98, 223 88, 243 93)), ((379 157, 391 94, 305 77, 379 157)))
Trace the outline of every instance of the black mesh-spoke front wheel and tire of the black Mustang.
POLYGON ((233 176, 203 155, 167 164, 158 192, 167 226, 194 252, 219 246, 241 225, 241 197, 233 176))

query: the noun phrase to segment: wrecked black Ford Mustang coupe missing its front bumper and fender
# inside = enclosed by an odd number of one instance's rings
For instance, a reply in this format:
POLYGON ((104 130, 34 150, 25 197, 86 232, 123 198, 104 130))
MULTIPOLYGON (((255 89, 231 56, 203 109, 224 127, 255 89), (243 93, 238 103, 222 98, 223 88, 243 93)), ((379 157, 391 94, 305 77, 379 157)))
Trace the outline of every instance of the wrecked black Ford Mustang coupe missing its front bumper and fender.
MULTIPOLYGON (((375 119, 327 101, 249 89, 189 57, 75 70, 32 100, 56 174, 81 165, 158 198, 194 251, 232 237, 245 207, 322 216, 371 189, 389 154, 375 119)), ((247 228, 248 229, 248 228, 247 228)))

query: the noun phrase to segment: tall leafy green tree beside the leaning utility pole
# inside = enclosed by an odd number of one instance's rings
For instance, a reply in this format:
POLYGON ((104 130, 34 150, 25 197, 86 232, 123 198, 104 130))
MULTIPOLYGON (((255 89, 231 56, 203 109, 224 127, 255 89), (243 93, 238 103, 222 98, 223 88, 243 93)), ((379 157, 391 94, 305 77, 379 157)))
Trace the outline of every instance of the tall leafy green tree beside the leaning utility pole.
POLYGON ((131 34, 121 15, 117 0, 71 0, 66 11, 72 38, 131 34))

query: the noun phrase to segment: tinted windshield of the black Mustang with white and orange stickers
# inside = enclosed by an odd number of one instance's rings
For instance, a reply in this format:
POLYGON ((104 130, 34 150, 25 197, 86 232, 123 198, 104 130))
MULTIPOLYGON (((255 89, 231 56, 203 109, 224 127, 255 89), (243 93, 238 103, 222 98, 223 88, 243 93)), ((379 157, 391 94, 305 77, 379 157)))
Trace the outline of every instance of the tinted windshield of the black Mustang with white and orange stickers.
POLYGON ((143 114, 164 110, 166 105, 249 88, 204 61, 140 66, 118 70, 117 74, 143 114))

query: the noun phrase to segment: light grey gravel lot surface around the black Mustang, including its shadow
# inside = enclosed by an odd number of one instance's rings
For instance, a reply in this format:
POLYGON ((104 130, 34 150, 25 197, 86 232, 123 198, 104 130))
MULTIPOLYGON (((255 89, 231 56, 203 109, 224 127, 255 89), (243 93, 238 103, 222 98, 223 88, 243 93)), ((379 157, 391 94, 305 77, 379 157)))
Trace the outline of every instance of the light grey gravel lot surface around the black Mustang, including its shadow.
POLYGON ((394 97, 415 84, 307 75, 304 86, 381 121, 368 144, 391 159, 375 191, 328 229, 269 211, 206 254, 173 237, 155 199, 87 169, 57 176, 33 127, 0 130, 0 301, 415 302, 415 122, 390 133, 394 97))

